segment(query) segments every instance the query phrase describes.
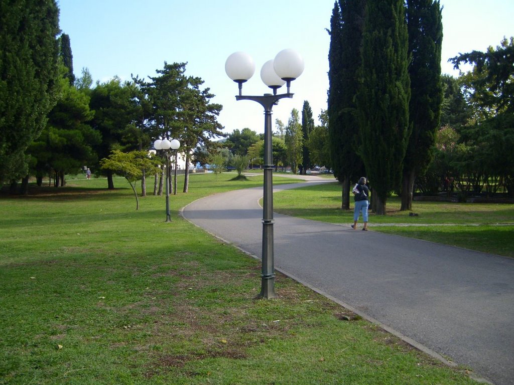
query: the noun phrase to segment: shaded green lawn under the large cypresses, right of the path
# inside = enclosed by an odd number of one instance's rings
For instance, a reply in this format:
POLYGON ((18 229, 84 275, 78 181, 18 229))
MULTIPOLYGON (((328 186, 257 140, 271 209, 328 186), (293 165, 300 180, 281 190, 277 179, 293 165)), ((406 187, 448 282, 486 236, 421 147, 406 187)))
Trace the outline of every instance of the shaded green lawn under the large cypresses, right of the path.
MULTIPOLYGON (((369 215, 371 230, 514 257, 514 204, 418 202, 399 211, 399 197, 387 201, 387 215, 369 215), (388 225, 389 224, 389 225, 388 225), (391 225, 392 224, 392 225, 391 225)), ((353 223, 341 209, 341 185, 329 183, 274 194, 278 213, 328 223, 353 223)), ((360 217, 362 225, 362 216, 360 217)))

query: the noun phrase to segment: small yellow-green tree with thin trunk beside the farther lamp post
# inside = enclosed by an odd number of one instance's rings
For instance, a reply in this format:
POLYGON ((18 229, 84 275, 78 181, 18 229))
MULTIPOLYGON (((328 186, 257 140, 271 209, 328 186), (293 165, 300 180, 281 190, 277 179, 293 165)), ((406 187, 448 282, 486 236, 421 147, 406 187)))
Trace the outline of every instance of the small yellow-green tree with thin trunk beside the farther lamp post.
POLYGON ((136 196, 136 210, 139 209, 135 182, 143 177, 143 171, 152 174, 158 171, 158 163, 149 157, 146 151, 121 152, 113 150, 108 158, 100 161, 104 170, 110 170, 115 174, 122 175, 132 187, 136 196))

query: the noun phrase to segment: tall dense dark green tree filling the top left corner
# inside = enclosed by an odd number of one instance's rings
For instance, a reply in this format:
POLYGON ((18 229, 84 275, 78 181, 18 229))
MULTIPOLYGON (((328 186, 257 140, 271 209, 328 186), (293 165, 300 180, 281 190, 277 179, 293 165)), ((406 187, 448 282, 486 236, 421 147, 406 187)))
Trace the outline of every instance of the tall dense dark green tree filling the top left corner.
POLYGON ((56 103, 59 32, 54 0, 0 2, 0 186, 27 175, 25 150, 56 103))

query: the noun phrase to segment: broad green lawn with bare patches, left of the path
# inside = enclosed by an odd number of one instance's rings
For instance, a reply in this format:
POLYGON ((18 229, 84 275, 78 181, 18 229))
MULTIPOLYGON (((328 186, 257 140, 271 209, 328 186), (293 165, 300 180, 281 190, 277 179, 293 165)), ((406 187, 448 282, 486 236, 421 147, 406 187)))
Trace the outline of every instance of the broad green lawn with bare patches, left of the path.
POLYGON ((262 184, 232 177, 192 175, 172 223, 123 179, 0 196, 0 384, 475 383, 283 275, 256 300, 260 262, 178 216, 262 184))

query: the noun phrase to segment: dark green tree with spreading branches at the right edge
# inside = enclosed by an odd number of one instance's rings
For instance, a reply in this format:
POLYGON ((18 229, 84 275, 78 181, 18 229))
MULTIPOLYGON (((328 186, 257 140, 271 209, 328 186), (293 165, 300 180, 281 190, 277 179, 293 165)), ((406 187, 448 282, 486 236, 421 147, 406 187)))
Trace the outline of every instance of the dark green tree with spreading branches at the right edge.
MULTIPOLYGON (((482 179, 487 184, 499 176, 509 196, 514 196, 514 37, 486 52, 473 51, 451 59, 456 68, 473 65, 460 82, 473 115, 463 127, 462 141, 472 148, 472 160, 482 159, 482 179)), ((480 172, 475 166, 468 177, 480 172)), ((474 181, 475 189, 479 183, 474 181)))

